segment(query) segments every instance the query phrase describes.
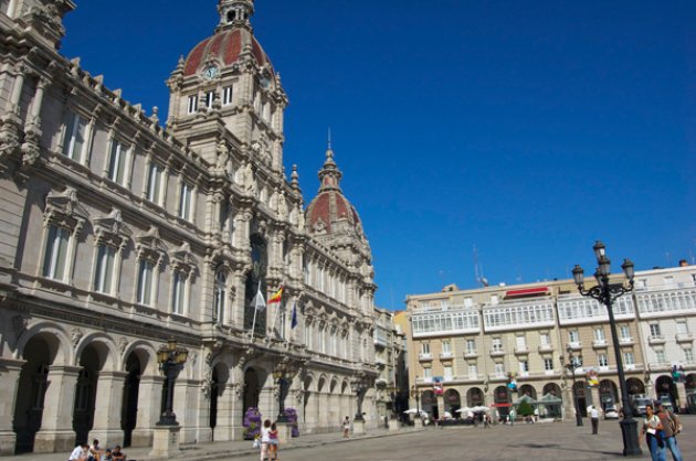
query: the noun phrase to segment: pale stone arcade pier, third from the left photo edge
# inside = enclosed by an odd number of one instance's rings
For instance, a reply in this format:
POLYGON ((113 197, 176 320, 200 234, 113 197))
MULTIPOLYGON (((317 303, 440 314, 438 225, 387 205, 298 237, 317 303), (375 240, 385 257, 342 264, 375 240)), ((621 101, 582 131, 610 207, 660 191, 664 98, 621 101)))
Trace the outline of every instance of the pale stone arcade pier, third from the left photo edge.
POLYGON ((99 440, 103 447, 122 443, 124 431, 120 428, 124 384, 127 374, 124 372, 101 372, 97 380, 96 405, 94 408, 94 427, 88 440, 99 440))

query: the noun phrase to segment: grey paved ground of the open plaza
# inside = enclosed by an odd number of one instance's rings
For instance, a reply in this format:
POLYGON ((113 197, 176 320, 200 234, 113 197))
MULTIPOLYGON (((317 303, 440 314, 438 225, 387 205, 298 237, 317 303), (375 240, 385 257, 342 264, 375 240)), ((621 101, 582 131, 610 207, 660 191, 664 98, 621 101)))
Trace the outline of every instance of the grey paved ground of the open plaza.
MULTIPOLYGON (((694 459, 696 452, 696 416, 682 418, 684 433, 679 444, 684 459, 694 459)), ((622 459, 621 429, 616 421, 601 421, 600 433, 592 436, 589 420, 583 427, 574 421, 510 426, 426 428, 420 431, 405 429, 388 432, 379 429, 366 436, 342 439, 340 433, 305 436, 282 447, 283 461, 450 461, 450 460, 616 460, 622 459)), ((650 459, 643 442, 643 455, 650 459)), ((131 460, 159 461, 148 457, 148 449, 125 450, 131 460)), ((0 457, 2 461, 65 460, 67 454, 24 454, 0 457)), ((218 442, 183 447, 179 461, 198 460, 257 460, 259 451, 251 441, 218 442)), ((636 459, 636 458, 634 458, 636 459)), ((667 455, 667 459, 672 459, 667 455)))

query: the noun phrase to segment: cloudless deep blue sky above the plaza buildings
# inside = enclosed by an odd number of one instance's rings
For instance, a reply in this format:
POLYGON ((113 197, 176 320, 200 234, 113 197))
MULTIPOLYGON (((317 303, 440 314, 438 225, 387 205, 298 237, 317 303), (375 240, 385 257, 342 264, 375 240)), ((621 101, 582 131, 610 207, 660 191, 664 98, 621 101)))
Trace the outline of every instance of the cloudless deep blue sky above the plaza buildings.
MULTIPOLYGON (((77 0, 62 52, 160 107, 215 0, 77 0)), ((696 256, 693 1, 257 0, 289 96, 285 165, 318 189, 330 126, 377 304, 696 256)))

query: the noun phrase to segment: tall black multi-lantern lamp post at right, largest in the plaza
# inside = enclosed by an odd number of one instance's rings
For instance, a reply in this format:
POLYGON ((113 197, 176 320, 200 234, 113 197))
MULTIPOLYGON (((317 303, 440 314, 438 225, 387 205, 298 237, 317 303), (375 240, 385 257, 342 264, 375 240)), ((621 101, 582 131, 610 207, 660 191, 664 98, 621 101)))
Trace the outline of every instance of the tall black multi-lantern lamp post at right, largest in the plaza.
POLYGON ((624 259, 621 265, 623 274, 626 278, 625 281, 620 283, 610 283, 610 267, 611 261, 607 257, 607 248, 601 242, 595 242, 592 247, 594 256, 597 257, 597 269, 594 271, 594 279, 597 286, 584 289, 584 270, 578 265, 572 269, 572 277, 580 294, 583 297, 594 298, 607 307, 607 313, 609 314, 609 328, 611 330, 611 340, 614 346, 614 354, 616 360, 616 373, 619 374, 619 385, 621 386, 621 400, 623 406, 623 419, 620 421, 621 432, 623 436, 623 454, 625 457, 633 457, 642 454, 641 447, 637 438, 637 422, 633 419, 631 405, 629 401, 629 392, 626 388, 626 377, 623 373, 623 361, 621 357, 621 350, 619 345, 619 335, 616 334, 616 321, 614 319, 614 311, 612 310, 612 302, 625 294, 633 291, 633 277, 635 275, 633 262, 629 259, 624 259))

